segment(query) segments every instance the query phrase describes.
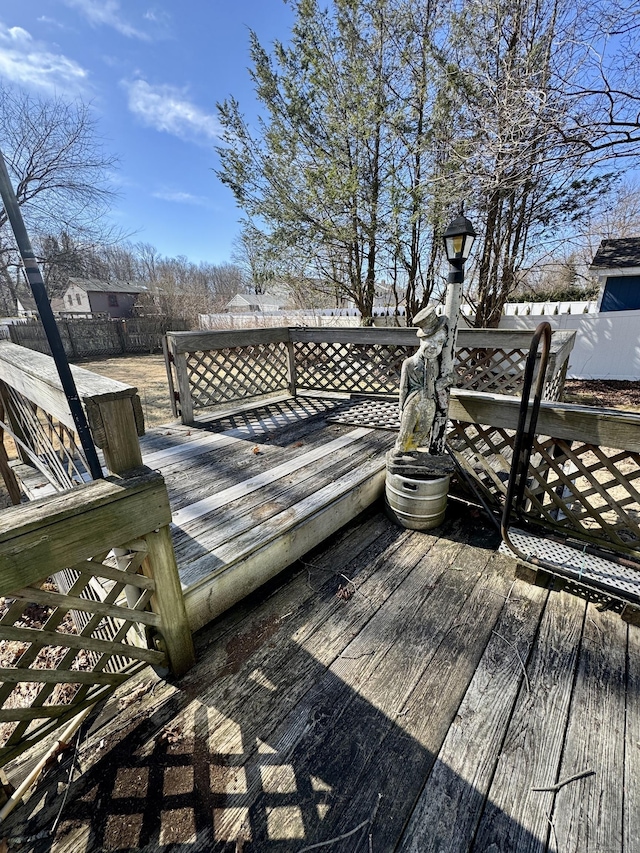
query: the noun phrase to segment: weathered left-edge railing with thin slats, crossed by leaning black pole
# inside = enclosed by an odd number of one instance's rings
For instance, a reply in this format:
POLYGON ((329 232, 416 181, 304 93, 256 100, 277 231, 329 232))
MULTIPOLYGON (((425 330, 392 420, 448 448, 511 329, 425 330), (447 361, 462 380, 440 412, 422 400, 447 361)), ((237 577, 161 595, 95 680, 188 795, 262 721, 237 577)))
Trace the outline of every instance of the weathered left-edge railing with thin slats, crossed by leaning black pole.
MULTIPOLYGON (((144 423, 137 389, 79 367, 72 371, 106 470, 120 474, 141 465, 138 435, 144 423)), ((26 497, 64 491, 87 479, 88 466, 52 358, 0 341, 0 401, 0 426, 14 442, 20 464, 12 466, 13 474, 26 497)), ((11 472, 2 467, 5 481, 11 481, 11 472)))

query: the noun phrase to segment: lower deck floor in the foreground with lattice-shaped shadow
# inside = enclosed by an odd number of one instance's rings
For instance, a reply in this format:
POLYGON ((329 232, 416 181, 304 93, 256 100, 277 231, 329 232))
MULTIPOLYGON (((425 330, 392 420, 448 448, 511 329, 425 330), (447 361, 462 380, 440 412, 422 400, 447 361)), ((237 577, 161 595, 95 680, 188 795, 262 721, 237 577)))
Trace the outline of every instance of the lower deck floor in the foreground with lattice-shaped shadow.
POLYGON ((199 632, 179 682, 121 689, 9 849, 640 850, 640 629, 496 546, 454 507, 433 534, 360 519, 199 632))

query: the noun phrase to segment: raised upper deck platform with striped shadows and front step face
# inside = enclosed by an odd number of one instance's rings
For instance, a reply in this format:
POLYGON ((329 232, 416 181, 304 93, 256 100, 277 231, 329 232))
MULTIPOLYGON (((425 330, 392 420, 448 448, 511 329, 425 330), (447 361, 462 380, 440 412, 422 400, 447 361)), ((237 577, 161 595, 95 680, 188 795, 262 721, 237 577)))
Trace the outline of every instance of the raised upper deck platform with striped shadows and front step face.
POLYGON ((380 497, 395 436, 327 421, 350 407, 344 395, 283 398, 142 439, 167 483, 193 630, 380 497))

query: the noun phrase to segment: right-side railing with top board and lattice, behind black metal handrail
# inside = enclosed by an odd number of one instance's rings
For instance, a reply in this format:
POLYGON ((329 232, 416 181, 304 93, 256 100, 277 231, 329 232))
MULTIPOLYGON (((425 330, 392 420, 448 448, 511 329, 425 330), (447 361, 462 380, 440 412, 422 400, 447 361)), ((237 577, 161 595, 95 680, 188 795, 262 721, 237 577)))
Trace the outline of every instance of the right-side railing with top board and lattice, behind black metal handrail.
MULTIPOLYGON (((448 444, 486 501, 503 505, 520 400, 452 393, 448 444)), ((543 402, 525 522, 640 558, 640 414, 543 402)))

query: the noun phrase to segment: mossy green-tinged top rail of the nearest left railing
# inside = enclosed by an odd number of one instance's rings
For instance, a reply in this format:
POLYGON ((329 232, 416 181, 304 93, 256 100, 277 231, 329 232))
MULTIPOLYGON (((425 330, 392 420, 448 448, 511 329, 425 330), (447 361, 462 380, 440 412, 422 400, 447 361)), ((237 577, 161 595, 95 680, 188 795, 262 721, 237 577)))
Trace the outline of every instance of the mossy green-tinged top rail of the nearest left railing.
POLYGON ((155 472, 96 480, 0 516, 0 595, 168 524, 164 480, 155 472))

